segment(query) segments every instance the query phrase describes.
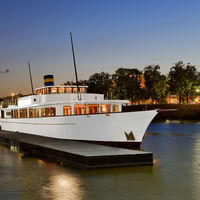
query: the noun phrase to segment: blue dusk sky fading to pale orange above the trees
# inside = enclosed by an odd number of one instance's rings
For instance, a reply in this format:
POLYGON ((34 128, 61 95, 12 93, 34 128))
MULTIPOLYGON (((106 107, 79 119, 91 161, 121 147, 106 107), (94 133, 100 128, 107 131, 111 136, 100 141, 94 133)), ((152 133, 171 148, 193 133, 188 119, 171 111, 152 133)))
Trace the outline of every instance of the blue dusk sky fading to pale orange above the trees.
POLYGON ((0 0, 0 97, 31 93, 28 60, 35 88, 75 80, 70 31, 80 79, 179 60, 200 71, 198 0, 0 0))

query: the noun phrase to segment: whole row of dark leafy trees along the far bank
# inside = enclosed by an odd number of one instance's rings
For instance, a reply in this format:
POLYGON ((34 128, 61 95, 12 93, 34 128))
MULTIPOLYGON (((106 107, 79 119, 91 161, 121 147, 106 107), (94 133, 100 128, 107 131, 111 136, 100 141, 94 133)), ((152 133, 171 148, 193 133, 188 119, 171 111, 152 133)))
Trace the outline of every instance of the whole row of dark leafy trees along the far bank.
MULTIPOLYGON (((75 84, 67 81, 65 85, 75 84)), ((148 65, 143 71, 137 68, 118 68, 114 74, 94 73, 88 80, 89 93, 104 94, 106 99, 129 99, 141 103, 151 99, 154 103, 165 103, 168 95, 176 95, 179 103, 189 103, 198 96, 200 72, 197 67, 183 61, 175 63, 167 75, 160 72, 159 65, 148 65)))

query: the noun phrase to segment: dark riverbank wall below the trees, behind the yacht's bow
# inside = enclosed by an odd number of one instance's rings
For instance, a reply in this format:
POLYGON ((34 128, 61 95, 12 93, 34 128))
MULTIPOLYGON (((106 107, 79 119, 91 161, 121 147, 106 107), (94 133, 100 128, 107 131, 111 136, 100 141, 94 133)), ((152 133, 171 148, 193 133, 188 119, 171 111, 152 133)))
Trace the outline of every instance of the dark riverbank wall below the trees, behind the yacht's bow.
POLYGON ((160 120, 200 120, 199 104, 152 104, 124 106, 123 112, 158 109, 160 112, 154 118, 160 120))

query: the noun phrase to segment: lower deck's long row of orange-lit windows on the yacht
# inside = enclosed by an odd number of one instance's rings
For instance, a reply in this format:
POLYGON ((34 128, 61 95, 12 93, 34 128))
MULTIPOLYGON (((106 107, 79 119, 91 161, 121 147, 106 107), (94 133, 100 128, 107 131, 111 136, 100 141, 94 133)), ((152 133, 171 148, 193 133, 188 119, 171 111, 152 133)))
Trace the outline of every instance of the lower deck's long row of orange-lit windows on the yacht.
POLYGON ((0 109, 0 118, 39 118, 86 114, 103 114, 121 111, 117 104, 55 104, 27 108, 0 109))

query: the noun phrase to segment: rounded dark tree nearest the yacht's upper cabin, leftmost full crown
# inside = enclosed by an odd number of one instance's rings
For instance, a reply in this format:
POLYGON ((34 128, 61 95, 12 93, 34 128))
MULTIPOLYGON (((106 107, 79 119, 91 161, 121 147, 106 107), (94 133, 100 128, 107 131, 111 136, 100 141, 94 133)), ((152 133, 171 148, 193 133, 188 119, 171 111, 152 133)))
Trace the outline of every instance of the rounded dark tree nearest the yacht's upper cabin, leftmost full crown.
POLYGON ((95 73, 88 80, 88 92, 104 94, 105 98, 108 98, 111 87, 112 79, 107 72, 95 73))

